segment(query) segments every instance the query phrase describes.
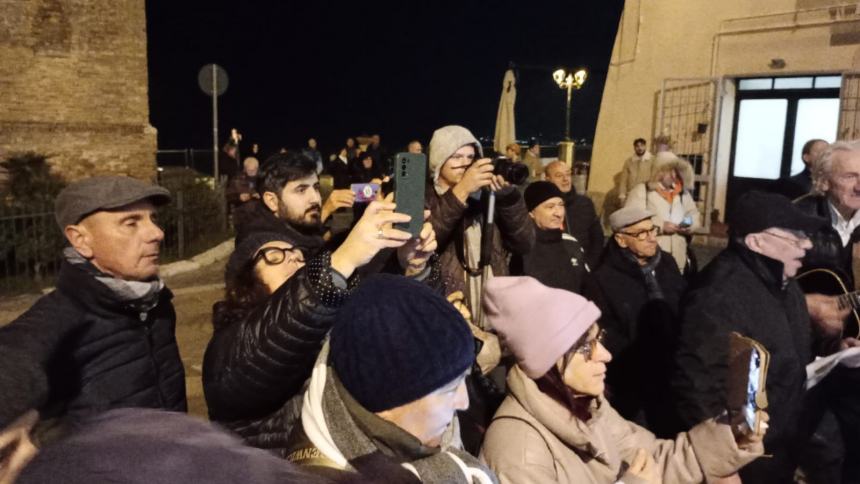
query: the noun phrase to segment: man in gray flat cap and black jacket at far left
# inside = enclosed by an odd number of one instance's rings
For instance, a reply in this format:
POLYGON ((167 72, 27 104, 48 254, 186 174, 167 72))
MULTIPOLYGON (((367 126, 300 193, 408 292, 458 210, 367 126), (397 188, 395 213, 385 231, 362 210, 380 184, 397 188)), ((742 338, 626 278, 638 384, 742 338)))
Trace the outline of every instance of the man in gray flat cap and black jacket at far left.
MULTIPOLYGON (((161 187, 119 176, 69 185, 55 215, 69 246, 56 290, 0 328, 0 432, 116 407, 185 411, 171 293, 158 277, 161 187)), ((0 455, 2 455, 0 449, 0 455)))

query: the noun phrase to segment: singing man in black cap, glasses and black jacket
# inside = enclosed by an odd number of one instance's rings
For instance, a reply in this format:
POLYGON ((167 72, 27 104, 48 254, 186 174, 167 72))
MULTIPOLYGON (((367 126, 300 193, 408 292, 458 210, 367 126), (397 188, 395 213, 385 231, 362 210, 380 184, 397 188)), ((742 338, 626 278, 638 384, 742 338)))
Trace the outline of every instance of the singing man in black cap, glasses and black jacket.
MULTIPOLYGON (((725 409, 730 332, 755 339, 771 354, 766 382, 770 428, 764 444, 773 458, 742 469, 743 482, 792 482, 795 469, 804 464, 803 444, 816 424, 805 367, 826 335, 811 323, 794 277, 813 247, 807 234, 826 224, 782 195, 744 194, 730 218, 728 248, 696 277, 681 304, 672 387, 684 425, 725 409)), ((804 470, 809 482, 839 482, 838 466, 836 476, 821 474, 828 469, 804 465, 804 470)))

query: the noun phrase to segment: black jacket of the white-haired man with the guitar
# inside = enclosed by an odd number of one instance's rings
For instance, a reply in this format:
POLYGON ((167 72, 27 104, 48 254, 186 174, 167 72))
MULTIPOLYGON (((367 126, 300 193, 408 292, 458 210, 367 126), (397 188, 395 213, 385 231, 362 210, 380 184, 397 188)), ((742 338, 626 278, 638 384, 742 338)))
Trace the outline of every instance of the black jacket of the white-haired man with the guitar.
MULTIPOLYGON (((794 202, 795 206, 809 215, 822 217, 830 221, 830 206, 827 197, 823 195, 807 195, 794 202)), ((848 287, 854 287, 854 273, 851 269, 851 245, 860 240, 860 229, 851 234, 847 246, 842 245, 842 238, 831 223, 821 230, 810 234, 812 249, 806 251, 803 267, 800 273, 810 269, 830 269, 842 276, 848 287)))

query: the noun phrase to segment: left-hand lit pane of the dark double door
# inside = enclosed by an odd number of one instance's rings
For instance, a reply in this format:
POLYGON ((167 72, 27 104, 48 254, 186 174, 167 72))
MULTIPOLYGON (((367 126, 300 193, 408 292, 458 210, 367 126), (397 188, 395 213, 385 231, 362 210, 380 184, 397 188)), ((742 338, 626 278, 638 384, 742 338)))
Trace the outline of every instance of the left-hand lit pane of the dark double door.
POLYGON ((787 99, 741 101, 734 176, 779 178, 787 108, 787 99))

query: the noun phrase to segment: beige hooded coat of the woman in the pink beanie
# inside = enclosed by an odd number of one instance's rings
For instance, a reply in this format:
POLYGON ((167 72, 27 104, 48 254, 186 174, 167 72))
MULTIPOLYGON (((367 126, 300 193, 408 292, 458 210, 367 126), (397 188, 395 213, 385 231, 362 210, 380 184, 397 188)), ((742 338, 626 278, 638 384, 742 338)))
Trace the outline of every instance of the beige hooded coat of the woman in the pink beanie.
MULTIPOLYGON (((508 374, 510 394, 487 430, 483 459, 502 484, 609 484, 644 448, 664 484, 711 481, 734 473, 761 455, 740 450, 728 425, 708 420, 675 440, 657 439, 624 420, 602 397, 587 423, 537 388, 518 366, 508 374)), ((642 482, 627 475, 626 484, 642 482)))

